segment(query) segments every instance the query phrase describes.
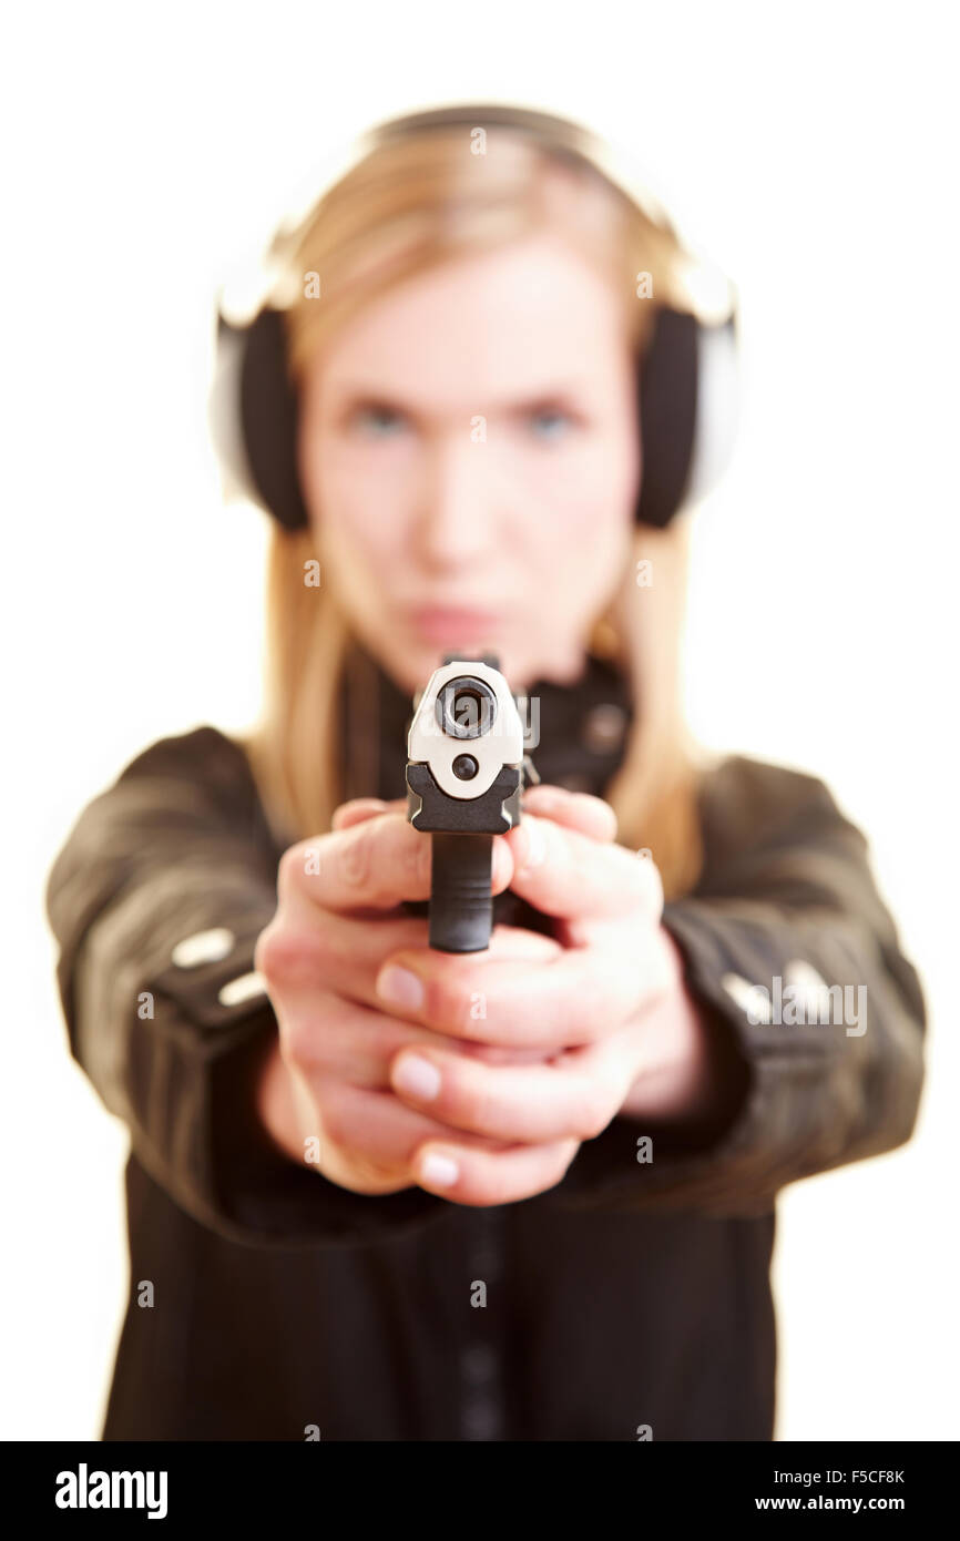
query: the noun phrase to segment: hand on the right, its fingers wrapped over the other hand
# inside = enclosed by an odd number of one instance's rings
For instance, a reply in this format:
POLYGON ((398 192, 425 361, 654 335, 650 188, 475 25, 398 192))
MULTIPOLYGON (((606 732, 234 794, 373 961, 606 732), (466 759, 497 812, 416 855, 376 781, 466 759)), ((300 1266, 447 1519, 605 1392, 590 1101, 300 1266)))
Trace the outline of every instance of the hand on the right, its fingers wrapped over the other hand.
MULTIPOLYGON (((707 1023, 661 926, 660 872, 613 835, 613 811, 601 800, 532 789, 521 824, 505 837, 510 888, 556 917, 556 942, 536 959, 405 948, 384 960, 379 999, 407 1025, 430 1029, 391 1065, 391 1085, 410 1108, 470 1136, 533 1145, 579 1145, 618 1113, 710 1111, 707 1023), (488 1065, 458 1053, 462 1037, 549 1059, 488 1065)), ((472 1156, 459 1137, 430 1142, 427 1154, 447 1167, 436 1167, 445 1180, 428 1176, 424 1187, 473 1202, 461 1188, 472 1156)))

